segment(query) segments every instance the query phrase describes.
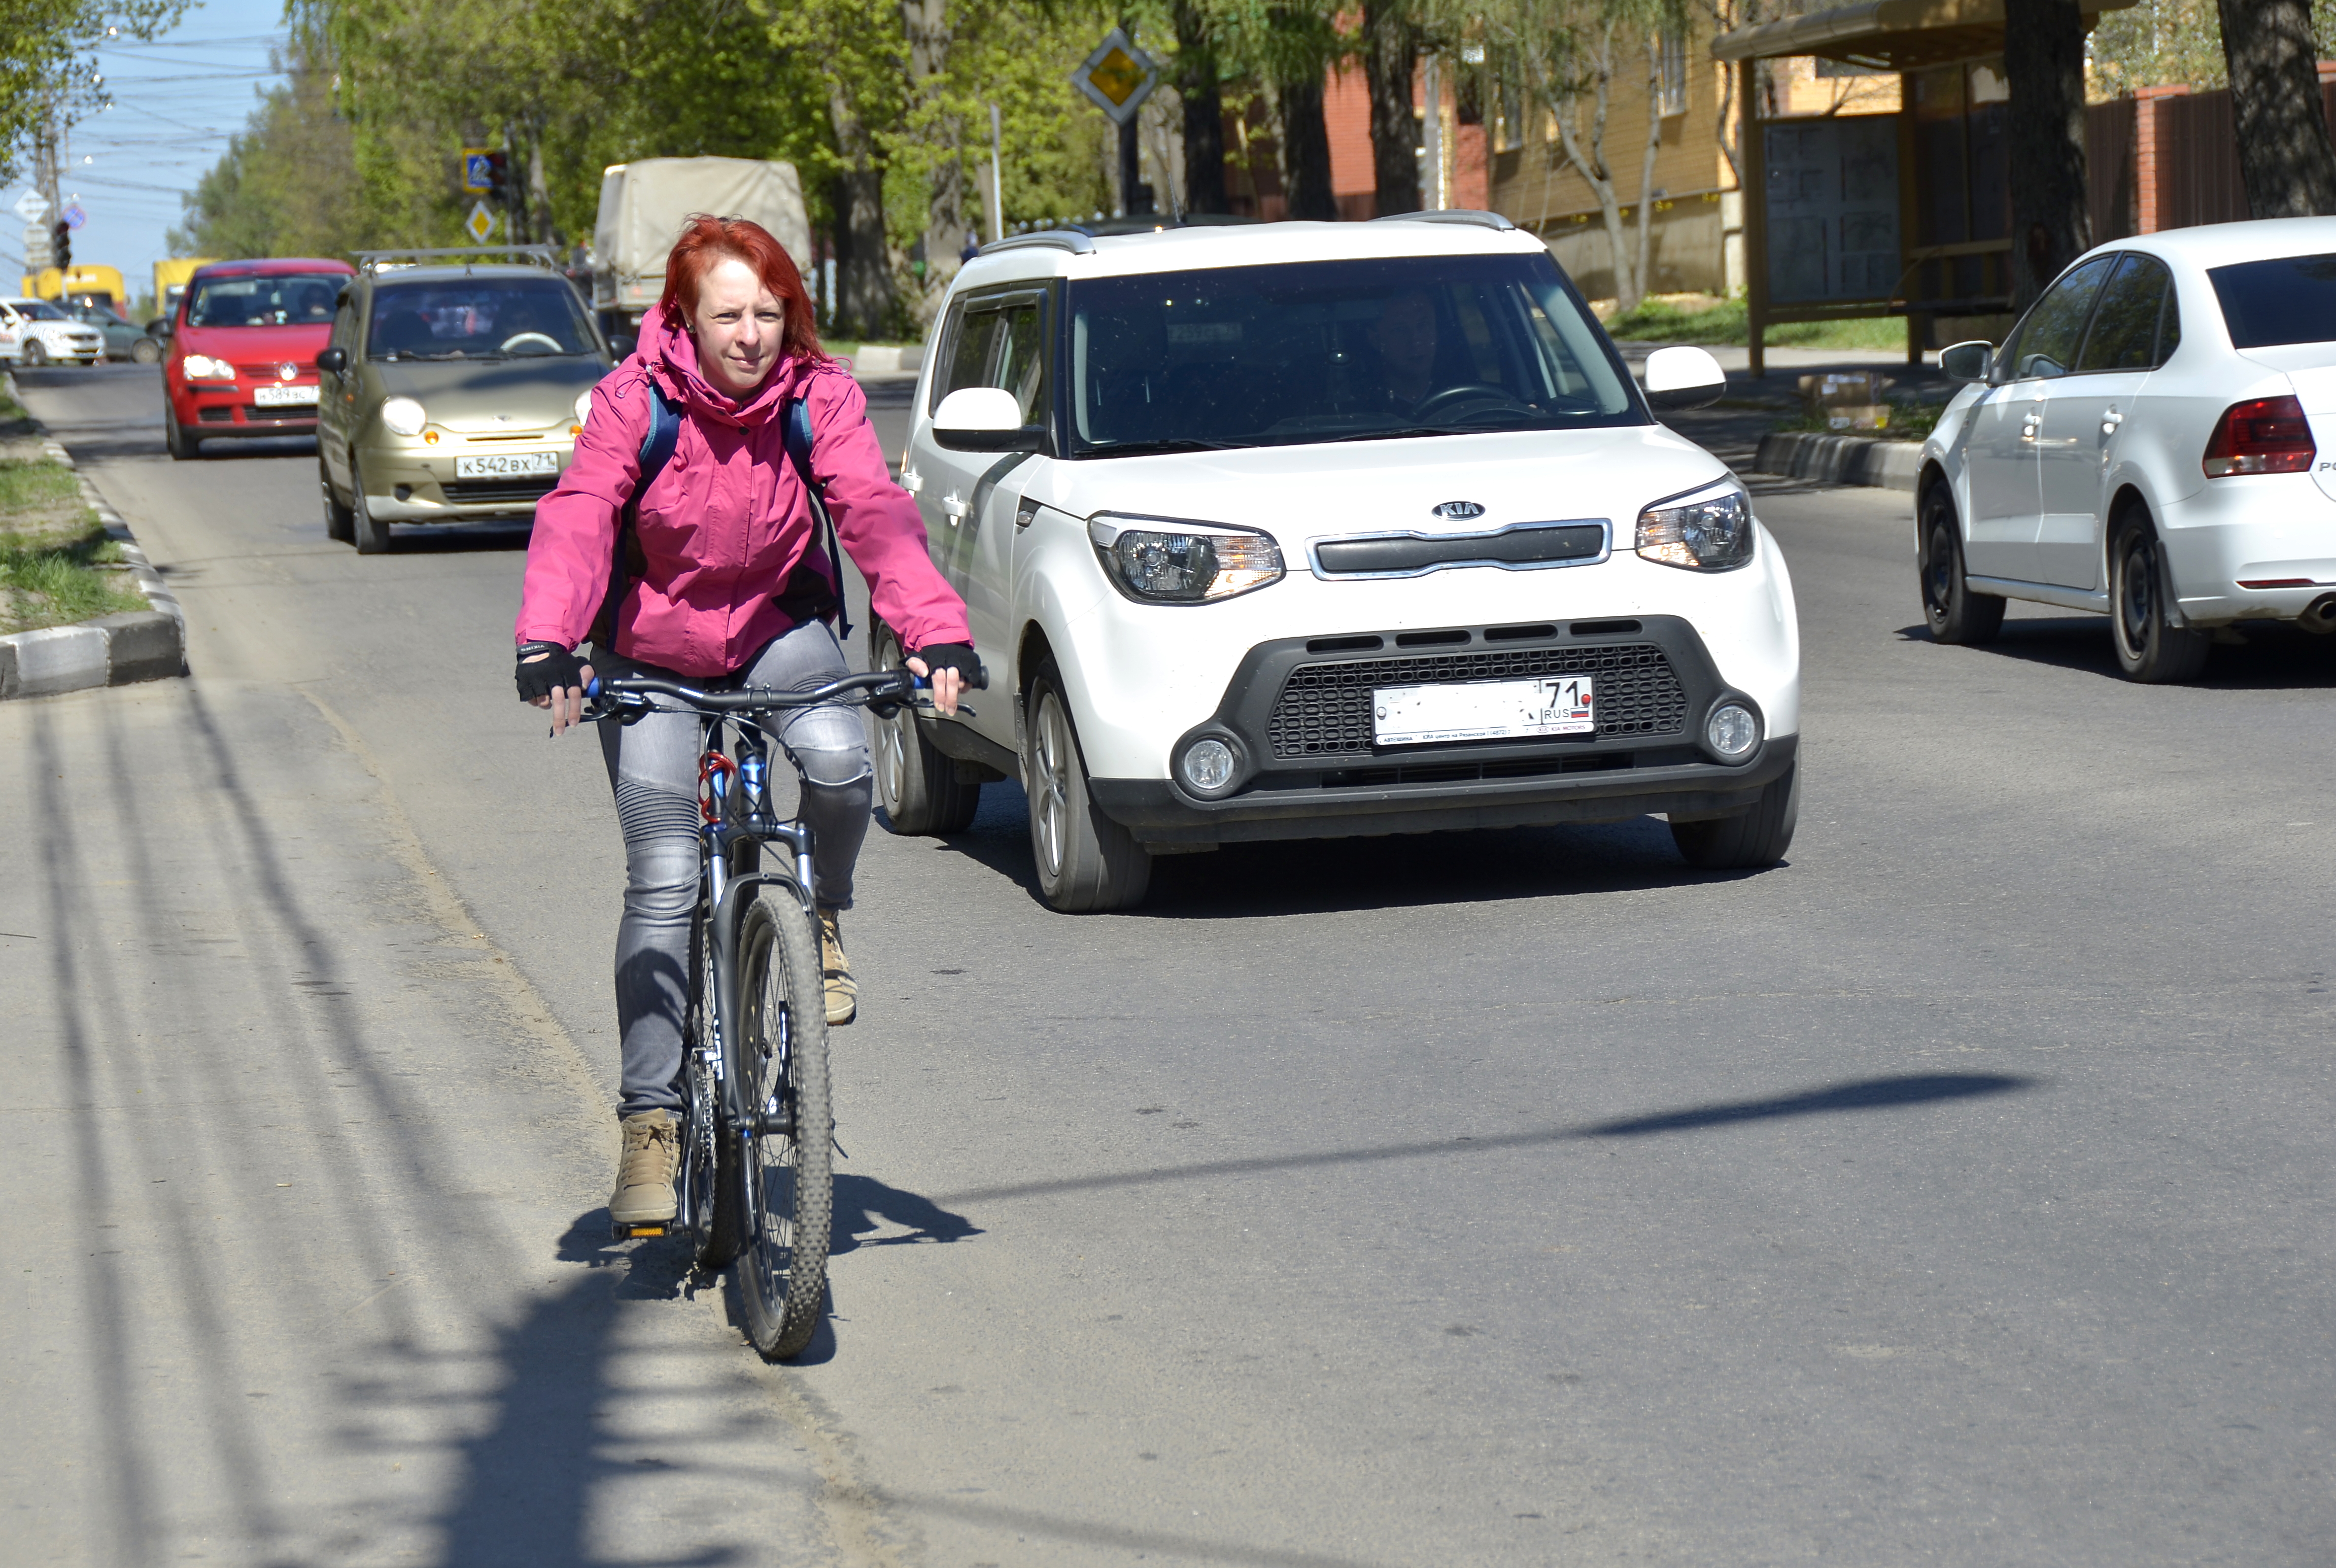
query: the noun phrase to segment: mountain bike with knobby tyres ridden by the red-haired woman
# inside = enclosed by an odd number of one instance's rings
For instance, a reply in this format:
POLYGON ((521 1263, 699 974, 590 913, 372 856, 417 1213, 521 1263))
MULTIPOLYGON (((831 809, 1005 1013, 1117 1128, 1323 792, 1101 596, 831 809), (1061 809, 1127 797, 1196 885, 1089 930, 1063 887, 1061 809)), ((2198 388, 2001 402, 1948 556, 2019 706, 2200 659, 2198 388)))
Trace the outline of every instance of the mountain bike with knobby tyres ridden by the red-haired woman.
MULTIPOLYGON (((843 703, 895 715, 925 680, 904 668, 846 675, 808 692, 705 692, 619 675, 586 687, 591 720, 631 724, 654 696, 705 720, 698 759, 698 907, 689 925, 682 1026, 682 1166, 670 1224, 617 1224, 619 1241, 689 1236, 701 1274, 738 1262, 745 1330, 764 1360, 811 1344, 827 1295, 834 1112, 827 1002, 811 904, 811 823, 771 811, 776 713, 843 703), (738 755, 724 729, 736 727, 738 755), (790 851, 762 867, 764 844, 790 851)), ((967 682, 988 685, 986 673, 967 682)), ((675 708, 663 708, 673 713, 675 708)), ((801 773, 801 764, 797 764, 801 773)))

